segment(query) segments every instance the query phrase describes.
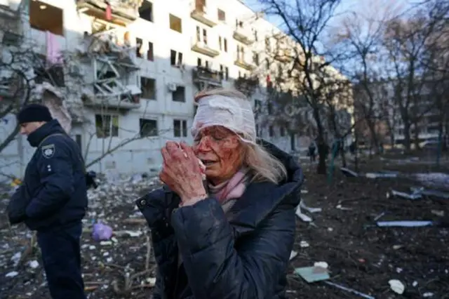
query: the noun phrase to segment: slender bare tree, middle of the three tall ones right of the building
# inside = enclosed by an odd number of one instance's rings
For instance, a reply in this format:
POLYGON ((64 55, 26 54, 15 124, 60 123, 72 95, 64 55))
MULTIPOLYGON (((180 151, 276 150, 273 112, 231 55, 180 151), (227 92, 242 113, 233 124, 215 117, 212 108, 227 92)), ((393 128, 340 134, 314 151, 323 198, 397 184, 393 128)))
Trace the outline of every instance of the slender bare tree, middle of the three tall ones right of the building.
MULTIPOLYGON (((399 11, 386 1, 370 1, 370 14, 358 8, 342 18, 337 39, 346 42, 353 53, 349 70, 354 83, 354 109, 358 120, 363 121, 370 134, 370 144, 379 152, 380 140, 376 128, 382 119, 380 100, 382 93, 382 34, 387 22, 399 11), (377 92, 376 92, 377 91, 377 92)), ((360 131, 360 130, 359 130, 360 131)), ((359 136, 361 137, 361 136, 359 136)))

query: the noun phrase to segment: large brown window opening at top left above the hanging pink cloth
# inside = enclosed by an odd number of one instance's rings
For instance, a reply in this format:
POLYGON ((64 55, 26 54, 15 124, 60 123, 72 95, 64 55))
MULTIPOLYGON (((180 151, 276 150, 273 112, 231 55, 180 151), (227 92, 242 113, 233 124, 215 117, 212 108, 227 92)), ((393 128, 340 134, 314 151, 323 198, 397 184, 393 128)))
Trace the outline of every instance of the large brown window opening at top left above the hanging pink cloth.
POLYGON ((41 1, 29 1, 29 25, 37 30, 64 36, 62 9, 41 1))

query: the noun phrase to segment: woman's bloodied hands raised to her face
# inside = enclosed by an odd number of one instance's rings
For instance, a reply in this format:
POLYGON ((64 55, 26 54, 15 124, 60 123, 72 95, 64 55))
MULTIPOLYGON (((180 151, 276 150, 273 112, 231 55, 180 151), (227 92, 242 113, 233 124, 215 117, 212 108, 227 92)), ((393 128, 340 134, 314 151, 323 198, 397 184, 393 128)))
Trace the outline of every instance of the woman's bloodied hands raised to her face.
POLYGON ((159 178, 180 196, 182 203, 205 197, 201 169, 192 147, 185 142, 168 141, 161 153, 163 166, 159 178))

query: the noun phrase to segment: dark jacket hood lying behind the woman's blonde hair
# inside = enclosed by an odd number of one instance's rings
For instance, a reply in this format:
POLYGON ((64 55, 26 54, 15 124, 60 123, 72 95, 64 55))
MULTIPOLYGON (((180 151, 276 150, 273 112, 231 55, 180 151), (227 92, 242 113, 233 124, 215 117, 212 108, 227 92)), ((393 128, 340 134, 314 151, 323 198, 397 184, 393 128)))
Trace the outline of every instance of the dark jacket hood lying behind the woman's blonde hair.
POLYGON ((297 159, 295 159, 292 155, 287 154, 283 150, 279 149, 279 147, 276 147, 276 145, 273 145, 270 142, 267 142, 265 140, 257 140, 258 145, 262 145, 269 154, 272 154, 273 157, 281 161, 283 166, 286 167, 287 170, 287 178, 283 182, 281 182, 279 185, 284 185, 288 182, 297 182, 302 184, 302 181, 304 180, 304 175, 302 174, 302 169, 300 164, 298 164, 297 159))

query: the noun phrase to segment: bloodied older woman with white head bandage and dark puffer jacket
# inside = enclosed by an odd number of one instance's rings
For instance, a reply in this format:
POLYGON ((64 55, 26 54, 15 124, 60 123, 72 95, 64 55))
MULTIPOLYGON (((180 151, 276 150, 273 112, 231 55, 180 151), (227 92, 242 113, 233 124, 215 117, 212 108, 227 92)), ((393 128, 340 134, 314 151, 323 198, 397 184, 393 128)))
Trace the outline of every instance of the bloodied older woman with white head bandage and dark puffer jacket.
POLYGON ((242 93, 206 91, 195 100, 194 145, 167 142, 164 187, 136 201, 152 232, 153 297, 285 298, 300 166, 256 142, 242 93))

